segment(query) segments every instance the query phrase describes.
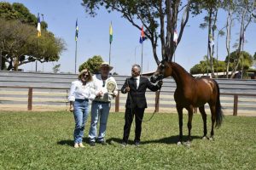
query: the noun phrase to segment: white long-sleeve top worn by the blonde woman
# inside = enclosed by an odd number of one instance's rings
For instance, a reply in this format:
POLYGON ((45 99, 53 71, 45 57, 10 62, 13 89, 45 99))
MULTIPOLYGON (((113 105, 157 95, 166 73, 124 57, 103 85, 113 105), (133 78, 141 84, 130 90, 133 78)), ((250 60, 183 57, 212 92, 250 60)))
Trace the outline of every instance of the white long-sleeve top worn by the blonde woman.
POLYGON ((83 82, 76 80, 72 82, 68 100, 74 101, 75 99, 90 99, 93 100, 96 97, 93 82, 87 82, 83 85, 83 82))

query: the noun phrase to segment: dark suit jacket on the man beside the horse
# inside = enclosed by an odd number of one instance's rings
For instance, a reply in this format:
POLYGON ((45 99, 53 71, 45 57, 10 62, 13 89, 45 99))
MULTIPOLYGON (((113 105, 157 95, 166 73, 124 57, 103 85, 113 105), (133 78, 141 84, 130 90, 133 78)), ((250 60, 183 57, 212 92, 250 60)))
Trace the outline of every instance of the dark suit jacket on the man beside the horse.
POLYGON ((130 87, 131 99, 130 99, 129 95, 127 95, 126 105, 125 105, 126 108, 131 108, 131 100, 132 100, 133 107, 137 106, 138 108, 147 108, 148 105, 147 105, 147 101, 146 101, 146 97, 145 97, 147 88, 149 88, 153 92, 160 89, 160 86, 152 84, 151 82, 148 81, 148 78, 146 78, 146 77, 140 77, 140 83, 139 83, 138 88, 136 87, 135 80, 133 77, 127 78, 125 80, 125 84, 121 88, 122 94, 127 93, 127 92, 125 92, 125 88, 127 86, 130 87))

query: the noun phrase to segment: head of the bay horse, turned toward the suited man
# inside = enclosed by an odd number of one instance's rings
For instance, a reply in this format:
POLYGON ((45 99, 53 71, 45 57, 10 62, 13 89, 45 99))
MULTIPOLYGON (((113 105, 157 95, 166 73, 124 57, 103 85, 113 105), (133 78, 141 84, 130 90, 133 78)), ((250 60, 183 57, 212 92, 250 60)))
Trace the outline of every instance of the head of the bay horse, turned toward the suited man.
POLYGON ((150 82, 157 82, 166 77, 170 77, 172 75, 172 67, 170 63, 166 60, 162 60, 160 65, 158 65, 157 70, 154 72, 153 76, 150 77, 150 82))

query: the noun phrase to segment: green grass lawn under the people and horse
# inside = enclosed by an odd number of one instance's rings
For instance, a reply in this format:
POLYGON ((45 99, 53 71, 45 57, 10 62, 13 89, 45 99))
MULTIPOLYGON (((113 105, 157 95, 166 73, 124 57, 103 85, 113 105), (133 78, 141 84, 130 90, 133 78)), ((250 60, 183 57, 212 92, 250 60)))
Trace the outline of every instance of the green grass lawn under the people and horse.
MULTIPOLYGON (((207 121, 210 132, 210 116, 207 121)), ((185 135, 186 124, 185 115, 185 135)), ((143 122, 141 146, 131 142, 126 148, 119 145, 124 113, 110 114, 107 146, 85 144, 84 149, 73 148, 74 121, 69 112, 2 111, 0 125, 0 169, 256 169, 256 117, 225 116, 210 141, 201 139, 201 116, 195 115, 190 147, 176 144, 177 114, 155 114, 143 122)))

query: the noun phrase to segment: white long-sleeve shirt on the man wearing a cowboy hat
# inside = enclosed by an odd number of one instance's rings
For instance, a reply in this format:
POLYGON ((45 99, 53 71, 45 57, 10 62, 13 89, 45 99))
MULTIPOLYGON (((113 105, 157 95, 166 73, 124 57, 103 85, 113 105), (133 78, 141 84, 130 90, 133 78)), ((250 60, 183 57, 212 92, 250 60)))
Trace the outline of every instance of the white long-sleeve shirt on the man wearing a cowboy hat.
POLYGON ((118 87, 117 83, 115 82, 113 77, 108 77, 105 82, 102 80, 102 75, 101 74, 96 74, 93 77, 93 83, 94 83, 94 88, 96 90, 96 94, 98 94, 100 91, 102 91, 103 96, 102 97, 96 97, 94 100, 95 101, 102 101, 102 102, 110 102, 113 99, 113 95, 118 94, 118 87), (108 94, 108 89, 107 89, 107 84, 109 81, 112 81, 115 83, 115 89, 113 90, 113 95, 108 94))

